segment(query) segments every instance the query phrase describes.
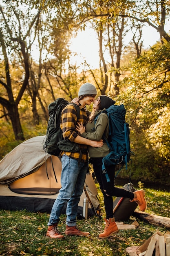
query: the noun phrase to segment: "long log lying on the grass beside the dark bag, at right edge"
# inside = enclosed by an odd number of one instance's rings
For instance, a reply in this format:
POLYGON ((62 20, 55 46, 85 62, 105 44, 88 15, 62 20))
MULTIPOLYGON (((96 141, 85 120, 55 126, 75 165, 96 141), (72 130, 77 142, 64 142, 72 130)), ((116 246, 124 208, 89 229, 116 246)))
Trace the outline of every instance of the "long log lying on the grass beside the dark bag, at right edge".
POLYGON ((143 211, 134 211, 132 215, 138 218, 139 220, 143 220, 147 223, 160 226, 160 227, 170 228, 170 218, 157 216, 155 214, 149 214, 143 211))

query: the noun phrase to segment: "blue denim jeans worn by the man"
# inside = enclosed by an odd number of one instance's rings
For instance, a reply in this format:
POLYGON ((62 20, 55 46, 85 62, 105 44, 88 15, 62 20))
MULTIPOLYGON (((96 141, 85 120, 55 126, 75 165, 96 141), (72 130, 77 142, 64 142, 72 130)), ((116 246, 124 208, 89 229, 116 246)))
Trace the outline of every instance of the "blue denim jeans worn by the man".
POLYGON ((62 188, 53 204, 48 226, 60 221, 60 215, 65 203, 67 203, 66 225, 70 227, 76 226, 78 203, 83 192, 87 168, 88 162, 80 162, 78 166, 78 160, 67 155, 62 156, 62 188))

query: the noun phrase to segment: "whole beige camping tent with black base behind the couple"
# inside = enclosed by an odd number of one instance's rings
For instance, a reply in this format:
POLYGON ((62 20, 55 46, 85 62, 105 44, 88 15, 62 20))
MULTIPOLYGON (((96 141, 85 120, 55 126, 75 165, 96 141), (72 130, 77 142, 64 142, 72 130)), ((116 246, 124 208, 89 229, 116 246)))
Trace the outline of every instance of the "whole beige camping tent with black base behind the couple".
MULTIPOLYGON (((37 136, 22 142, 0 161, 0 209, 51 212, 61 188, 62 164, 60 157, 44 152, 44 138, 37 136)), ((91 175, 86 175, 79 216, 84 198, 89 201, 88 215, 99 215, 97 189, 91 175)))

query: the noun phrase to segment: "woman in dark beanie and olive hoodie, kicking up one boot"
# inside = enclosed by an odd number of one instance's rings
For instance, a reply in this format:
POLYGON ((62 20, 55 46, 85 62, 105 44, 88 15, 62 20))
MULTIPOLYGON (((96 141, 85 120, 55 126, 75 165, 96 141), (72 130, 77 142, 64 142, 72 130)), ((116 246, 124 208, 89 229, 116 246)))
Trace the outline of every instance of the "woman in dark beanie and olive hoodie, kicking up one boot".
MULTIPOLYGON (((86 127, 82 124, 77 125, 76 130, 82 137, 96 141, 102 139, 103 135, 106 139, 108 138, 109 119, 107 114, 102 111, 113 104, 115 104, 115 101, 106 95, 101 95, 94 101, 93 112, 89 117, 86 127), (99 115, 100 112, 102 113, 99 115), (94 120, 97 115, 99 116, 95 123, 94 120)), ((115 165, 106 166, 106 171, 110 179, 110 182, 107 182, 105 173, 102 173, 102 159, 108 155, 109 152, 106 142, 104 142, 104 145, 101 148, 88 146, 90 162, 93 164, 95 176, 104 196, 104 206, 106 211, 106 226, 104 232, 99 234, 99 238, 107 238, 111 234, 116 234, 119 231, 113 216, 113 196, 130 198, 130 202, 135 201, 139 204, 139 209, 141 211, 145 211, 147 206, 144 190, 141 189, 139 191, 130 192, 115 187, 115 165)))

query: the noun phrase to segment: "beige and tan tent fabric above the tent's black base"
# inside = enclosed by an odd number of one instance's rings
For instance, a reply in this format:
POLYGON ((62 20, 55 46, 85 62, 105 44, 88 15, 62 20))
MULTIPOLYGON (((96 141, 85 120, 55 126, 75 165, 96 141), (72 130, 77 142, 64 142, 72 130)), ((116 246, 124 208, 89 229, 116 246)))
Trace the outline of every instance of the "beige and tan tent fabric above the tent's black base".
MULTIPOLYGON (((50 198, 57 197, 57 189, 59 191, 61 188, 60 178, 62 164, 59 157, 51 156, 44 152, 44 139, 45 136, 37 136, 28 139, 14 148, 0 161, 0 195, 10 197, 18 195, 23 198, 28 196, 32 198, 49 198, 49 196, 50 198), (53 168, 57 182, 54 177, 53 168), (49 179, 47 178, 46 170, 49 179), (27 188, 29 188, 27 195, 22 194, 22 189, 26 190, 27 188), (35 188, 44 188, 44 194, 42 195, 43 190, 41 190, 41 194, 35 192, 35 188), (18 192, 16 193, 16 191, 18 192), (32 194, 33 191, 36 194, 32 194), (46 191, 49 191, 48 195, 45 195, 46 191), (55 192, 57 194, 54 194, 55 192)), ((84 186, 86 187, 86 193, 88 194, 88 198, 91 200, 93 207, 97 209, 99 206, 99 200, 97 199, 98 193, 91 174, 86 175, 84 186)), ((86 198, 85 191, 83 191, 80 198, 79 206, 81 207, 83 207, 84 198, 86 198)), ((90 204, 89 208, 91 208, 90 204)))

